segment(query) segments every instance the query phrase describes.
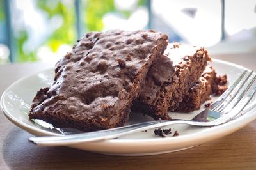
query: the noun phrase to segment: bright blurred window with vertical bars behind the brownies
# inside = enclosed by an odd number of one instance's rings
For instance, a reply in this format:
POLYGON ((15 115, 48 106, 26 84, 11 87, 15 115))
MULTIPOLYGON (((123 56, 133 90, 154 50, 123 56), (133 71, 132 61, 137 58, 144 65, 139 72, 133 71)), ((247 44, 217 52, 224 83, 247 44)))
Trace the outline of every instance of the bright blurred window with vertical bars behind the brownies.
POLYGON ((87 31, 155 29, 212 46, 256 39, 255 0, 0 0, 0 64, 56 62, 87 31))

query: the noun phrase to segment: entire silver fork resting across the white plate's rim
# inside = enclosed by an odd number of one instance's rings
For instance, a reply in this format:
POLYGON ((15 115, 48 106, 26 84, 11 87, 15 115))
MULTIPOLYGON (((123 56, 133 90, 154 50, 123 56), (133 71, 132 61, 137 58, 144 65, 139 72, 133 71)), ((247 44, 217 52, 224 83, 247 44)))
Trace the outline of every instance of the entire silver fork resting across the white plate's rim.
POLYGON ((197 114, 192 120, 173 119, 148 121, 134 125, 127 125, 125 127, 99 130, 96 132, 50 137, 29 137, 29 140, 36 144, 42 144, 45 146, 66 146, 70 144, 115 139, 116 137, 120 137, 122 135, 179 123, 195 126, 221 125, 233 120, 239 115, 242 115, 255 107, 256 101, 251 101, 256 93, 256 86, 252 86, 255 79, 256 75, 253 75, 253 71, 249 74, 247 71, 244 71, 225 91, 225 93, 223 93, 213 104, 211 104, 209 108, 197 114), (248 105, 249 103, 250 105, 248 105), (244 109, 245 107, 246 109, 244 109))

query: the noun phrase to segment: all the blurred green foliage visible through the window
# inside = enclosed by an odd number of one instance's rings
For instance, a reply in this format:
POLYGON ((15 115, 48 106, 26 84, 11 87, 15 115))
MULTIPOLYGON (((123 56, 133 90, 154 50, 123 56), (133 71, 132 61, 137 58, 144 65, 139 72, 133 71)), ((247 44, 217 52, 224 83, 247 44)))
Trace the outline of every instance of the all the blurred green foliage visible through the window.
MULTIPOLYGON (((0 20, 4 19, 3 1, 0 0, 0 20)), ((60 16, 63 24, 47 37, 47 40, 42 43, 49 47, 52 52, 57 52, 60 45, 73 45, 77 40, 76 33, 76 13, 75 0, 35 0, 36 6, 40 12, 45 13, 47 19, 51 20, 56 15, 60 16)), ((129 1, 129 0, 127 0, 129 1)), ((139 0, 138 6, 145 5, 147 0, 139 0)), ((114 0, 81 0, 81 19, 83 31, 102 31, 104 29, 103 17, 106 13, 115 12, 122 17, 129 18, 132 11, 118 11, 115 8, 114 0)), ((15 62, 36 61, 36 50, 33 52, 24 52, 24 43, 28 40, 28 30, 19 31, 15 35, 13 52, 15 62)))

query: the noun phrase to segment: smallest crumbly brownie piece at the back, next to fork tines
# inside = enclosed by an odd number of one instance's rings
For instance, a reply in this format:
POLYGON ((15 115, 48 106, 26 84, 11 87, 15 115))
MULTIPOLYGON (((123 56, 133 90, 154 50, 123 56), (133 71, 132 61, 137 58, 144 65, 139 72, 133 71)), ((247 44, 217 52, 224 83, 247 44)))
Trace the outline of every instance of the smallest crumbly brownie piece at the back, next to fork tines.
POLYGON ((207 66, 174 112, 191 112, 200 109, 201 104, 211 99, 210 95, 221 95, 227 89, 226 83, 227 75, 216 76, 214 68, 207 66))

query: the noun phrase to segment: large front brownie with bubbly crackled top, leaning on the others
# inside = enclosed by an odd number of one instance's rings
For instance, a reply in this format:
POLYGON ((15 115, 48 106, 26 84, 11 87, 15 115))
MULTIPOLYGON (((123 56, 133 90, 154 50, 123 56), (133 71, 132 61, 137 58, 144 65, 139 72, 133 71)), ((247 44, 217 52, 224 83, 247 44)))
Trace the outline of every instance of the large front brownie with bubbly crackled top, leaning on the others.
POLYGON ((29 118, 86 132, 124 125, 167 45, 168 36, 156 31, 86 33, 56 63, 54 82, 38 91, 29 118))

